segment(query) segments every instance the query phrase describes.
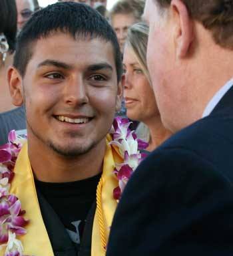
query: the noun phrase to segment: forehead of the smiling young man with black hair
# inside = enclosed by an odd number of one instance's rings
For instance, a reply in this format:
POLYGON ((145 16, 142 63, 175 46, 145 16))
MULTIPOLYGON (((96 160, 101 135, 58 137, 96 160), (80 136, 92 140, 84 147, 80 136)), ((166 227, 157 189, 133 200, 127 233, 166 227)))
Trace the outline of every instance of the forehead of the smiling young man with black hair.
MULTIPOLYGON (((59 33, 38 39, 31 45, 32 56, 29 61, 35 66, 45 59, 55 59, 71 65, 89 66, 93 63, 115 63, 113 45, 101 38, 74 38, 59 33)), ((34 66, 33 65, 33 66, 34 66)), ((34 67, 35 67, 34 66, 34 67)))

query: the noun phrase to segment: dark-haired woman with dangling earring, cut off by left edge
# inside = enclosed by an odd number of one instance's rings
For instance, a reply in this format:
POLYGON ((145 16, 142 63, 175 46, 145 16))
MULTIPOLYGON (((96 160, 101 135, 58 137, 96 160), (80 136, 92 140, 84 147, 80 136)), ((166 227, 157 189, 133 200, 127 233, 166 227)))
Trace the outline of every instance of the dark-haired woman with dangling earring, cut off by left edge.
POLYGON ((15 0, 0 1, 0 145, 7 142, 10 130, 26 131, 23 106, 15 108, 7 86, 7 69, 13 63, 17 33, 15 0))

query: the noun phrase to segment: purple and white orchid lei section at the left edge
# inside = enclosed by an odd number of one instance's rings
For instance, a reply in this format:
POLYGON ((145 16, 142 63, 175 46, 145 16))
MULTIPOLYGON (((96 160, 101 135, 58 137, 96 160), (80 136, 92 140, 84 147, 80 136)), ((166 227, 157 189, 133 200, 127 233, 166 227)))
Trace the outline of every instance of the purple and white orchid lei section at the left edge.
POLYGON ((29 221, 23 217, 19 199, 9 193, 22 144, 17 142, 15 130, 9 132, 8 140, 0 146, 0 249, 6 247, 4 256, 22 256, 23 245, 16 237, 25 235, 29 221))

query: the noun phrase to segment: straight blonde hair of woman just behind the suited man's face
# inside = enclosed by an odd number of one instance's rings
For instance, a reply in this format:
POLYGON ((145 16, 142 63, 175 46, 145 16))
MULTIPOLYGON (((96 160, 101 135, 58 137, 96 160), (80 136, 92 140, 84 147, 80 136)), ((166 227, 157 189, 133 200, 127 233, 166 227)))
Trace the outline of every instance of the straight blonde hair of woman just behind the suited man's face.
POLYGON ((142 72, 150 82, 150 75, 146 64, 146 47, 148 42, 148 25, 144 22, 135 23, 128 29, 128 35, 126 38, 126 46, 130 47, 139 65, 142 67, 142 72))

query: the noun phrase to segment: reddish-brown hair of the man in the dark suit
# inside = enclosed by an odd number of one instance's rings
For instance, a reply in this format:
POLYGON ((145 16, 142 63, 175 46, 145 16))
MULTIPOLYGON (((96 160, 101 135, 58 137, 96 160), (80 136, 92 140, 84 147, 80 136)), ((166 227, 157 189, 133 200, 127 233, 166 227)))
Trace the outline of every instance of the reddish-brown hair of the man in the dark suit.
MULTIPOLYGON (((214 41, 233 49, 233 1, 232 0, 182 0, 190 17, 200 22, 212 33, 214 41)), ((162 8, 168 8, 171 0, 154 0, 162 8)))

